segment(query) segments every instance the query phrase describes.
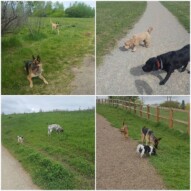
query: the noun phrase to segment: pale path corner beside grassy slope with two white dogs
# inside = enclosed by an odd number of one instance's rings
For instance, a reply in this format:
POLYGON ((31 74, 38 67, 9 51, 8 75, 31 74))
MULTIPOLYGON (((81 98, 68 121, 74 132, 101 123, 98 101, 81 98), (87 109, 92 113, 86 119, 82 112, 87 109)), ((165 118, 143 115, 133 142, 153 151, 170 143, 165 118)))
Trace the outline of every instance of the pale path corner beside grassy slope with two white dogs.
POLYGON ((4 147, 1 147, 1 189, 39 190, 20 163, 4 147))

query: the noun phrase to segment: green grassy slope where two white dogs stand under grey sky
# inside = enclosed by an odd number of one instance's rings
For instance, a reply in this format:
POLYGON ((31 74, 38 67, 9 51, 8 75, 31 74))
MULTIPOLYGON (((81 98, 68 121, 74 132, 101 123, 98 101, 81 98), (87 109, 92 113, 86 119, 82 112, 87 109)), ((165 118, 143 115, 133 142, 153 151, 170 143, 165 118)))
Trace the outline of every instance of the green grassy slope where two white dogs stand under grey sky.
POLYGON ((46 190, 94 189, 94 131, 94 110, 2 115, 3 145, 46 190), (47 123, 64 133, 48 136, 47 123))

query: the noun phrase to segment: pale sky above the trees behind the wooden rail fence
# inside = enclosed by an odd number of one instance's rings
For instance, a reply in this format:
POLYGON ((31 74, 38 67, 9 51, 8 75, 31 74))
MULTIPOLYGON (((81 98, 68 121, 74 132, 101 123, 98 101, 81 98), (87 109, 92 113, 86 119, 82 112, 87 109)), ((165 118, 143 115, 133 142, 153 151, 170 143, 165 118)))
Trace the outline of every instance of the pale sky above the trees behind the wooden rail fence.
MULTIPOLYGON (((107 96, 97 96, 98 98, 107 98, 107 96)), ((140 99, 143 99, 144 104, 159 104, 167 100, 167 96, 139 96, 140 99)), ((190 96, 171 96, 172 101, 190 103, 190 96)))

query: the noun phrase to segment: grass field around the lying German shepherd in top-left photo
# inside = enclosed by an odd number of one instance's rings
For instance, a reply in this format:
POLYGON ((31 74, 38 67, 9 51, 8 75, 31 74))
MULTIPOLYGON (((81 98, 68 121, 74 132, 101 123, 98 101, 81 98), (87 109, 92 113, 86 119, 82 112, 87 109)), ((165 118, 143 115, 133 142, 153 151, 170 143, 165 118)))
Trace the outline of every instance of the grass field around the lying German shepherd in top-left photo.
MULTIPOLYGON (((29 24, 35 27, 38 19, 30 18, 29 24)), ((29 35, 24 26, 2 37, 2 94, 70 94, 72 68, 79 67, 86 56, 94 55, 94 18, 51 20, 59 22, 59 35, 52 31, 50 18, 41 18, 39 34, 29 35), (24 61, 31 60, 32 55, 40 55, 49 85, 35 78, 34 87, 29 87, 24 61)))

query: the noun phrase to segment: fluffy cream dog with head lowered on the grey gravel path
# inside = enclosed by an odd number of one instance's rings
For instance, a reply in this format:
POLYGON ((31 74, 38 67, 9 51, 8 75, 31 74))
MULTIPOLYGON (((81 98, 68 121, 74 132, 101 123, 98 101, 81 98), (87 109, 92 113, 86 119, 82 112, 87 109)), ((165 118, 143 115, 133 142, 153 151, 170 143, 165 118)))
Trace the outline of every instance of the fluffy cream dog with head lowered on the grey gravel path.
POLYGON ((136 51, 136 46, 140 43, 144 43, 145 47, 148 47, 151 42, 151 31, 153 30, 152 27, 149 27, 146 32, 142 32, 136 35, 125 42, 124 48, 125 49, 132 49, 132 52, 136 51))

